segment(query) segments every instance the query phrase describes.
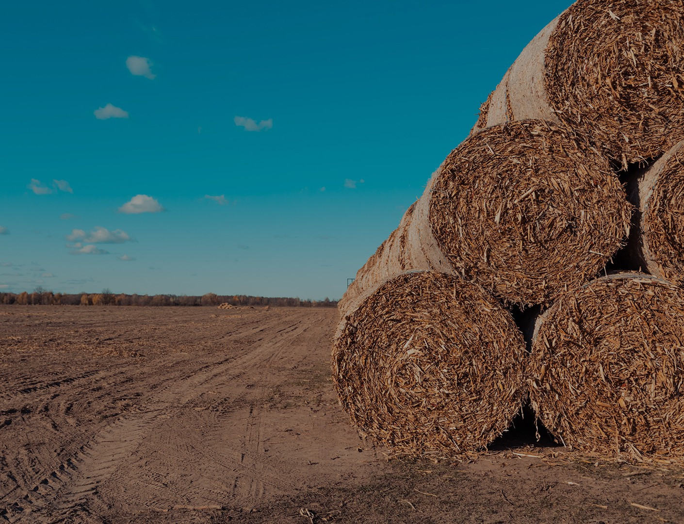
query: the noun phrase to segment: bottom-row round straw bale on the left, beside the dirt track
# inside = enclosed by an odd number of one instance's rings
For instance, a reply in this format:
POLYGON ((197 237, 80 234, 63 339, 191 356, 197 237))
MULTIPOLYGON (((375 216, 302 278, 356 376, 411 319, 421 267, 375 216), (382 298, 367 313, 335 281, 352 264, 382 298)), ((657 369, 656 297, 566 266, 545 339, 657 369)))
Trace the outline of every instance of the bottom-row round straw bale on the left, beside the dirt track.
POLYGON ((332 346, 340 402, 362 432, 405 456, 458 456, 508 429, 523 405, 525 343, 473 283, 404 273, 369 291, 332 346))

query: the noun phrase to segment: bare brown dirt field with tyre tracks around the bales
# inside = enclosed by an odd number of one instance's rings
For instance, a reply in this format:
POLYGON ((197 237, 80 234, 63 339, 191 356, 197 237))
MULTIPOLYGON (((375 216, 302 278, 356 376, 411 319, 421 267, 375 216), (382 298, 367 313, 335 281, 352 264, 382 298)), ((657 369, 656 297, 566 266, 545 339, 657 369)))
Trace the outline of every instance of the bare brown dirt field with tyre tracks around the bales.
POLYGON ((684 522, 684 473, 518 430, 387 461, 330 382, 334 309, 0 306, 0 521, 684 522), (527 439, 527 441, 526 441, 527 439))

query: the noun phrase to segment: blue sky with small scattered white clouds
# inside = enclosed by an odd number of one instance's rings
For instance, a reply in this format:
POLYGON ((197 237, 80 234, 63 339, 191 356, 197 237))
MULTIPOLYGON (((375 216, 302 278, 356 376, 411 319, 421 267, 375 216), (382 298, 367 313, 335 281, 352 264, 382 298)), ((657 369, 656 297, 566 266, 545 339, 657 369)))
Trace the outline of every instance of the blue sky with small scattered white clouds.
POLYGON ((0 291, 339 298, 567 5, 3 5, 0 291))

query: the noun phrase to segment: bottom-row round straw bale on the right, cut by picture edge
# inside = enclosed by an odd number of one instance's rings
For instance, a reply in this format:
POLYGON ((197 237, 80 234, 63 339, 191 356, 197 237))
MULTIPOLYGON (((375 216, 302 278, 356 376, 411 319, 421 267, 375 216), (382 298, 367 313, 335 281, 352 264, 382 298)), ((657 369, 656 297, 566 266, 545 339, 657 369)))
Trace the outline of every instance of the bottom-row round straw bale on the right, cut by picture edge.
POLYGON ((684 289, 612 274, 542 315, 531 405, 557 439, 623 460, 684 457, 684 289))

